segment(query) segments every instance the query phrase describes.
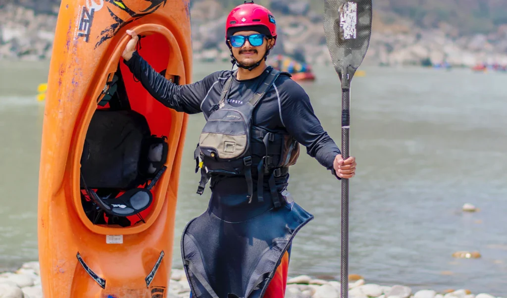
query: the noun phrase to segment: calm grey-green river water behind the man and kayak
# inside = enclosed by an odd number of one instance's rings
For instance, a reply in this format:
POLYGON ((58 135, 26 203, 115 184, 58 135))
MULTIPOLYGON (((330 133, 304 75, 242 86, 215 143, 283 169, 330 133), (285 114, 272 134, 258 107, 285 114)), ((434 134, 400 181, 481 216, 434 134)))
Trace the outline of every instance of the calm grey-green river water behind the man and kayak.
MULTIPOLYGON (((0 62, 0 271, 38 258, 37 193, 44 102, 35 99, 48 62, 0 62)), ((229 68, 196 64, 194 80, 229 68)), ((365 67, 352 83, 350 273, 413 289, 507 294, 507 100, 501 73, 365 67), (464 213, 466 203, 480 208, 464 213), (479 259, 456 259, 458 250, 479 259)), ((340 144, 341 96, 332 67, 302 84, 322 126, 340 144)), ((195 194, 192 159, 204 124, 190 118, 176 217, 180 233, 207 206, 195 194)), ((315 215, 296 237, 289 275, 340 275, 340 183, 305 154, 289 191, 315 215)))

